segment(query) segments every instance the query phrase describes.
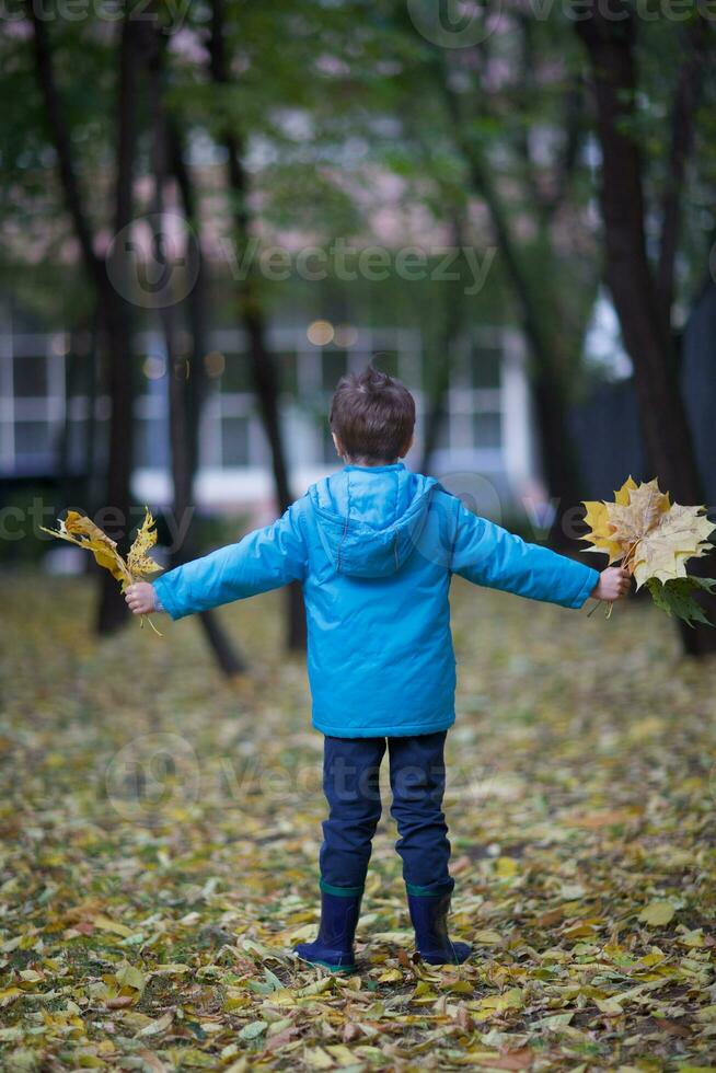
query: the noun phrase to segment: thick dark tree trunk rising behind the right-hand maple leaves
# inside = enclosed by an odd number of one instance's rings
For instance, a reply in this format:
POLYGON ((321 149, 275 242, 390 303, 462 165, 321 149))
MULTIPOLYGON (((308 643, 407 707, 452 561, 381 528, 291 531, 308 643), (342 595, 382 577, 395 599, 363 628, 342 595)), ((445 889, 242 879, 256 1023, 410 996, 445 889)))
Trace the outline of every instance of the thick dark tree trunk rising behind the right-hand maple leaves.
MULTIPOLYGON (((646 252, 642 157, 627 132, 636 93, 636 23, 625 5, 621 7, 624 19, 619 22, 600 11, 592 0, 590 18, 578 21, 576 27, 587 48, 594 88, 602 150, 600 198, 607 277, 634 365, 650 465, 673 499, 695 505, 703 503, 703 486, 666 325, 668 311, 665 315, 660 309, 646 252)), ((663 290, 663 280, 661 286, 663 290)), ((705 567, 705 563, 696 565, 698 569, 705 567)), ((716 600, 704 598, 702 602, 714 619, 716 600)), ((691 655, 716 651, 716 630, 682 627, 681 633, 691 655)))

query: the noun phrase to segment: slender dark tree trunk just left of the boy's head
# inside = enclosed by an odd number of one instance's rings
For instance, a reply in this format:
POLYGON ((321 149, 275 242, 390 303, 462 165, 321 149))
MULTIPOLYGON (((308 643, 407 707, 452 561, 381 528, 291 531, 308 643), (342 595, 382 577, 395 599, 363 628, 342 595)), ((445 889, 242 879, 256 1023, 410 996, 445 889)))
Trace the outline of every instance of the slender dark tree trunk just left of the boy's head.
MULTIPOLYGON (((211 0, 209 73, 218 86, 227 86, 231 82, 230 62, 226 50, 226 37, 224 0, 211 0)), ((243 164, 243 145, 239 135, 229 127, 224 127, 221 140, 228 157, 228 177, 229 189, 233 198, 236 256, 241 262, 242 255, 249 244, 251 230, 247 203, 249 181, 243 164)), ((258 411, 272 454, 277 506, 279 512, 282 514, 292 503, 293 497, 289 486, 286 450, 278 408, 280 383, 276 362, 266 346, 265 316, 251 266, 246 272, 245 278, 236 281, 236 290, 241 323, 244 326, 249 342, 249 359, 258 402, 258 411)), ((303 605, 303 592, 298 581, 288 586, 287 614, 288 647, 300 650, 305 647, 305 609, 303 605)))

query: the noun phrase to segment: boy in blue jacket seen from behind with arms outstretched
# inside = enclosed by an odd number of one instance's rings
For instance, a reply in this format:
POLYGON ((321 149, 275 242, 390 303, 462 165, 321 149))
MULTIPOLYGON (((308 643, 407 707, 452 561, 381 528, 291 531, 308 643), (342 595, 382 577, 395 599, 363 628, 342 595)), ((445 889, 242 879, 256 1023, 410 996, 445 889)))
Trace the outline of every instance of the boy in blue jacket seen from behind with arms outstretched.
POLYGON ((381 815, 379 770, 390 757, 411 920, 420 957, 460 964, 447 918, 454 886, 442 814, 443 746, 454 722, 455 662, 448 592, 453 574, 534 600, 580 608, 624 596, 628 575, 581 563, 466 510, 432 477, 400 461, 415 403, 369 367, 345 377, 331 406, 345 466, 309 488, 273 526, 128 588, 136 614, 172 619, 277 588, 303 586, 313 726, 324 735, 328 819, 321 847, 321 924, 297 947, 332 971, 355 969, 354 935, 381 815))

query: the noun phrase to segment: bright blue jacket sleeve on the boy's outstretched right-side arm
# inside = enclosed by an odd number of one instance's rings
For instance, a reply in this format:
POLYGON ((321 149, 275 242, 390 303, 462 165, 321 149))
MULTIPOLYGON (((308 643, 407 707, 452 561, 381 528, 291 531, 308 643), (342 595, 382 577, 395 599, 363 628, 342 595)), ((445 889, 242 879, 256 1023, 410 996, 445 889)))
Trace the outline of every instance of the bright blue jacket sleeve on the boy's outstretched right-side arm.
POLYGON ((599 581, 599 573, 541 547, 473 515, 461 503, 452 549, 452 572, 490 589, 530 600, 580 608, 599 581))

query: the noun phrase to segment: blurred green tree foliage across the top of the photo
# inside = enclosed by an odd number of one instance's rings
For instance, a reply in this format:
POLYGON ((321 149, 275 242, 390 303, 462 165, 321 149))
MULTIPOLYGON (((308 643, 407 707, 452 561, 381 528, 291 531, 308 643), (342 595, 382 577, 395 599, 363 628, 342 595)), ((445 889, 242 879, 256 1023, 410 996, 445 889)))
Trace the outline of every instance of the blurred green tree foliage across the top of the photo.
MULTIPOLYGON (((493 177, 518 236, 517 255, 534 308, 557 343, 557 365, 562 362, 567 381, 577 378, 599 282, 599 236, 586 211, 593 196, 593 168, 586 151, 591 119, 584 96, 584 56, 561 10, 545 9, 536 18, 507 9, 499 32, 474 48, 446 51, 416 30, 404 0, 381 0, 369 8, 353 0, 230 2, 224 46, 232 58, 232 80, 220 86, 207 73, 208 7, 182 9, 180 34, 172 23, 178 9, 162 4, 159 10, 168 31, 165 100, 189 147, 201 195, 207 204, 211 199, 213 212, 224 214, 224 233, 231 227, 227 201, 217 201, 215 191, 223 183, 216 142, 227 129, 246 150, 256 231, 267 242, 301 229, 319 241, 355 235, 369 243, 371 212, 380 205, 376 175, 390 172, 404 184, 403 206, 423 206, 435 228, 449 229, 455 217, 464 217, 470 221, 465 240, 484 247, 493 233, 484 215, 474 222, 481 194, 473 188, 471 159, 477 160, 493 177), (541 204, 559 187, 573 126, 574 159, 559 204, 547 218, 541 204)), ((70 229, 31 35, 22 28, 0 43, 0 183, 9 195, 0 199, 0 223, 12 223, 5 263, 35 267, 38 259, 63 259, 70 229)), ((86 209, 95 227, 106 229, 120 22, 90 13, 50 19, 47 30, 86 209)), ((668 182, 670 115, 689 55, 689 30, 684 23, 677 32, 663 13, 639 26, 633 134, 649 162, 647 194, 655 205, 668 182)), ((706 80, 684 198, 683 288, 703 275, 705 242, 714 226, 713 103, 713 80, 706 80)), ((152 166, 148 108, 148 94, 142 93, 138 181, 152 166)), ((148 185, 138 182, 137 192, 139 214, 149 208, 148 185)), ((506 282, 503 276, 501 286, 506 282)), ((57 291, 39 289, 47 311, 57 318, 57 291)), ((33 300, 30 292, 27 298, 33 300)))

